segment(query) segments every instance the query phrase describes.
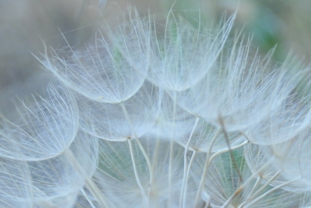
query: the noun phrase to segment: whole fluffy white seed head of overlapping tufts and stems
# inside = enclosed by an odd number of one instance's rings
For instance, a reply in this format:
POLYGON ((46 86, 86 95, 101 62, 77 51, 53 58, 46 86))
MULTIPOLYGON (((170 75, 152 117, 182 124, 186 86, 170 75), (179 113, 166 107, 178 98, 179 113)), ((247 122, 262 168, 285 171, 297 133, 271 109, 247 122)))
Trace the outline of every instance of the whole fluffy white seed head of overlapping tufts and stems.
POLYGON ((0 207, 311 206, 311 70, 229 39, 234 18, 208 31, 130 9, 47 49, 61 84, 0 117, 0 207))

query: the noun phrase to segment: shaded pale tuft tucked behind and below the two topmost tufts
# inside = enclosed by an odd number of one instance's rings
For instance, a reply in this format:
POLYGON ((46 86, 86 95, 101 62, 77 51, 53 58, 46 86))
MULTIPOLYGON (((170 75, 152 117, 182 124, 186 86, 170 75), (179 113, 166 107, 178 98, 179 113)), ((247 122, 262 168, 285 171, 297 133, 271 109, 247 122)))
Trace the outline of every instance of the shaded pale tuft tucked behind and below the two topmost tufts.
POLYGON ((77 96, 81 128, 99 138, 126 141, 144 135, 156 122, 160 112, 162 91, 146 82, 138 92, 123 102, 100 103, 77 96), (133 129, 132 129, 133 128, 133 129))

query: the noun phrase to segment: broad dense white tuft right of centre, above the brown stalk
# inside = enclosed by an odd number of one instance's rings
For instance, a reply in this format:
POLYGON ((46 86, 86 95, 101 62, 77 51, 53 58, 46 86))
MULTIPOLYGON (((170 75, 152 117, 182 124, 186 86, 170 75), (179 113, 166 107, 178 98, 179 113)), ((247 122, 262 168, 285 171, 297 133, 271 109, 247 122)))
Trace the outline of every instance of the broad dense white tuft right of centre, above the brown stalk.
POLYGON ((251 54, 250 40, 237 37, 206 73, 187 90, 175 93, 178 104, 194 116, 229 131, 256 125, 278 109, 294 88, 294 79, 271 67, 271 54, 251 54))

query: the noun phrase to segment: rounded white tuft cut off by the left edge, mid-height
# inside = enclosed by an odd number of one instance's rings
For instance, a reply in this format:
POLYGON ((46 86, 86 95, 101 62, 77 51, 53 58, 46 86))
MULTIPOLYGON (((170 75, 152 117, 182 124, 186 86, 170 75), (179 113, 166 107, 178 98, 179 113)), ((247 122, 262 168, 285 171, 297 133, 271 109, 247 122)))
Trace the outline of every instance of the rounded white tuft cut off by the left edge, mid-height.
POLYGON ((35 96, 17 107, 18 119, 0 125, 0 156, 39 161, 61 154, 78 131, 78 107, 63 86, 48 85, 46 96, 35 96))

